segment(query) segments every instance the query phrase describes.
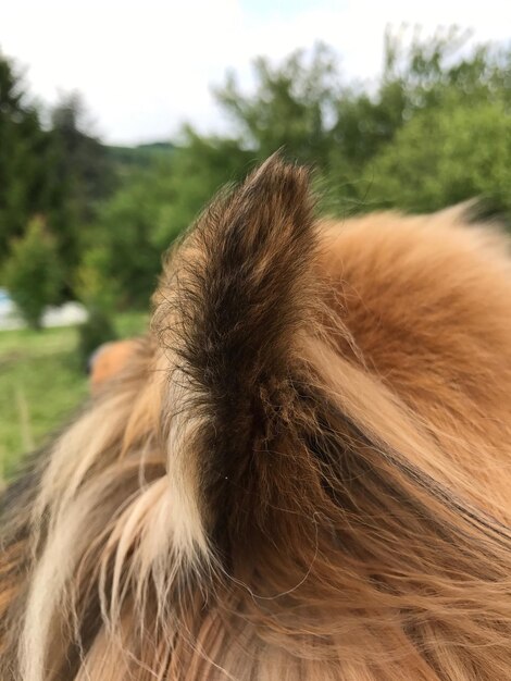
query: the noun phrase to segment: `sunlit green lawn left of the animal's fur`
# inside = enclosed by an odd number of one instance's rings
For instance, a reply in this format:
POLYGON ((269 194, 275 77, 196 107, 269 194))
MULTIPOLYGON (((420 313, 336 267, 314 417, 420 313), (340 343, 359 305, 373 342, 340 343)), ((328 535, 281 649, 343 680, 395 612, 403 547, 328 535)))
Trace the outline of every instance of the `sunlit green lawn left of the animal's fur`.
MULTIPOLYGON (((147 315, 120 314, 121 337, 144 332, 147 315)), ((88 394, 73 326, 0 332, 0 483, 21 456, 42 445, 88 394)))

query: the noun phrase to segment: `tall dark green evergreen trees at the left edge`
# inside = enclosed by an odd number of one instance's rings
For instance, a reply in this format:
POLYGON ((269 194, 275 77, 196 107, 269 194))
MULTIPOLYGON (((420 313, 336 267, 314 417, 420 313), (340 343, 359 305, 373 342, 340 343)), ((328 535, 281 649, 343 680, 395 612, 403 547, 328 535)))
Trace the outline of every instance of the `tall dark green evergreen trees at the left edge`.
POLYGON ((60 257, 62 299, 74 295, 82 233, 114 182, 105 149, 88 132, 77 95, 64 96, 50 116, 45 114, 0 52, 0 265, 13 239, 41 215, 60 257), (43 115, 50 119, 49 128, 41 124, 43 115))

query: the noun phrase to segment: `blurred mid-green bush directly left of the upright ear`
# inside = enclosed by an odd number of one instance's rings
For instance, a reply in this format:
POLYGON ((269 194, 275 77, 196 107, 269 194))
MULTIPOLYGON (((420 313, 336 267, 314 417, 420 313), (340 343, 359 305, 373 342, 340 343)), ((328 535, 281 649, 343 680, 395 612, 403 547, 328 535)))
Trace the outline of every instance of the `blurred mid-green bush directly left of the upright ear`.
POLYGON ((138 170, 103 203, 89 248, 100 249, 101 275, 122 307, 146 309, 161 271, 161 256, 226 182, 239 179, 252 153, 235 140, 184 132, 172 158, 138 170))

